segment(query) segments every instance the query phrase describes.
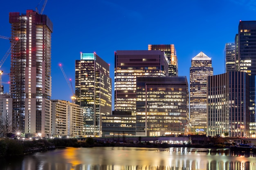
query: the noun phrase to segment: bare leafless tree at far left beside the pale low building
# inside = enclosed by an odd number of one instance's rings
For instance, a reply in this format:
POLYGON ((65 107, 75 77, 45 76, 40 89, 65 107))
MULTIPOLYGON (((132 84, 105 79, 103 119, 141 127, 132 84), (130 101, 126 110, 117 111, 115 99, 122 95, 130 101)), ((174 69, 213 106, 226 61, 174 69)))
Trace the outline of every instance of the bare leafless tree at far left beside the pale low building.
POLYGON ((7 137, 8 133, 12 132, 12 122, 10 115, 2 115, 0 117, 0 133, 3 137, 7 137))

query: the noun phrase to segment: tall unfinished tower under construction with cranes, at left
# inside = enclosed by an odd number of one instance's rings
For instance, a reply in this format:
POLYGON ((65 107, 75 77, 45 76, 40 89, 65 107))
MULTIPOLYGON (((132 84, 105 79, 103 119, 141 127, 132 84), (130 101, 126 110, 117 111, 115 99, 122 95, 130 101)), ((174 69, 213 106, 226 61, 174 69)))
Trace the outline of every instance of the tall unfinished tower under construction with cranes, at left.
POLYGON ((13 130, 49 137, 51 134, 51 34, 46 15, 27 10, 9 13, 11 39, 19 42, 11 51, 10 94, 13 98, 13 130))

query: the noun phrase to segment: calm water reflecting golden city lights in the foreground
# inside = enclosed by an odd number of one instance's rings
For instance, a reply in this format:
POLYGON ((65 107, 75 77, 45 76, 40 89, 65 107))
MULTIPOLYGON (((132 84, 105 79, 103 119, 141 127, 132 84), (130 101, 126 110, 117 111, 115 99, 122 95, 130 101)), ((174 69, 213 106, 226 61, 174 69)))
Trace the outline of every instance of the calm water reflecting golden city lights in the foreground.
POLYGON ((256 154, 195 148, 64 148, 0 159, 0 170, 256 170, 256 154))

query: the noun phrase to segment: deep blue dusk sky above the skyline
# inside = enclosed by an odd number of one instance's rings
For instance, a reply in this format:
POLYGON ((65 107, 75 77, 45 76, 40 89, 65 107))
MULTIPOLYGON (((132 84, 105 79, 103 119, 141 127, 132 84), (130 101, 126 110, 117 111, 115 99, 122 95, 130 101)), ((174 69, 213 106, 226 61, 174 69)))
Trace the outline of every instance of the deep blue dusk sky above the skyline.
MULTIPOLYGON (((4 0, 0 35, 10 36, 9 12, 35 10, 40 0, 4 0)), ((41 10, 44 0, 40 2, 41 10)), ((213 74, 224 73, 224 47, 234 42, 239 20, 256 20, 254 0, 48 0, 43 14, 53 22, 52 99, 70 100, 72 92, 58 64, 74 86, 75 60, 80 52, 96 52, 110 64, 114 87, 114 52, 147 50, 148 44, 174 44, 180 76, 189 81, 191 59, 204 52, 212 58, 213 74)), ((9 49, 0 39, 0 58, 9 49)), ((9 73, 10 57, 2 66, 9 73)), ((8 82, 3 75, 3 82, 8 82)), ((8 85, 4 86, 8 92, 8 85)), ((74 87, 73 87, 74 88, 74 87)), ((113 88, 114 91, 114 88, 113 88)), ((112 108, 113 109, 113 108, 112 108)))

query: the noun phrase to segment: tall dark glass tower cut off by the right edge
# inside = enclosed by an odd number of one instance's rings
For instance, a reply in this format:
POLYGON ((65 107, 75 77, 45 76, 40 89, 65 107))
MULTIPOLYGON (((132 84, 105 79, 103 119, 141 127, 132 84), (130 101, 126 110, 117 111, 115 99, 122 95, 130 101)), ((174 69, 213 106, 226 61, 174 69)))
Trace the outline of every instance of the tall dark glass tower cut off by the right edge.
POLYGON ((238 71, 244 71, 250 75, 250 133, 254 137, 256 127, 255 117, 255 76, 256 76, 256 21, 240 21, 238 34, 235 41, 238 48, 238 71))

